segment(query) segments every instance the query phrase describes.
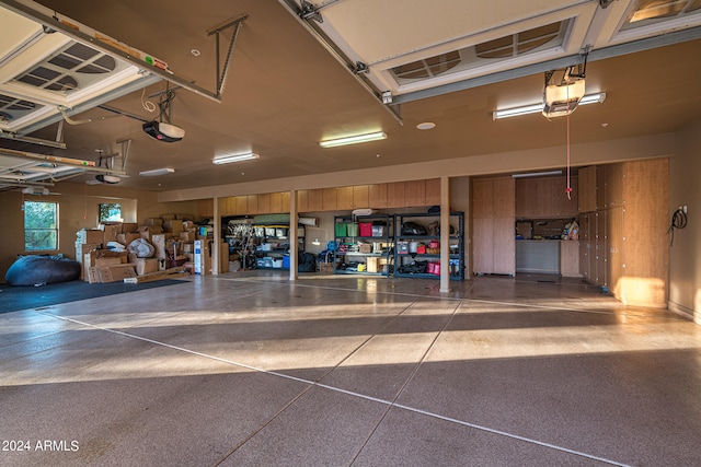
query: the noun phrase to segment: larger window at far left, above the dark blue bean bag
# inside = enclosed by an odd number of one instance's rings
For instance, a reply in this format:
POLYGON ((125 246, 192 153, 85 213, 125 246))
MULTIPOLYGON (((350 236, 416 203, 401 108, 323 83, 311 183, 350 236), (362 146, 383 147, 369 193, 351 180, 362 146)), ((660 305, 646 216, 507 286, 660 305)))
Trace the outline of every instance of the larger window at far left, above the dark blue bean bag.
POLYGON ((58 203, 24 201, 24 249, 58 249, 58 203))

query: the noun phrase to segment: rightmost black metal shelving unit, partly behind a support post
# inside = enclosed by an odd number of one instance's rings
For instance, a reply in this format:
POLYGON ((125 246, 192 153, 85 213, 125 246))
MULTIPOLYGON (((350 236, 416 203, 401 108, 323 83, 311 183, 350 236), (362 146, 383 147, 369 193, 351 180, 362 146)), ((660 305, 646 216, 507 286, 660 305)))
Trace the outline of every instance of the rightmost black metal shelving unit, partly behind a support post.
MULTIPOLYGON (((437 272, 428 272, 432 269, 430 264, 440 264, 440 252, 434 253, 428 249, 432 242, 440 242, 440 235, 404 235, 402 234, 402 225, 406 222, 414 222, 426 227, 432 222, 440 222, 440 213, 423 212, 423 213, 405 213, 394 215, 394 277, 397 278, 440 278, 440 267, 437 272), (412 252, 413 245, 416 250, 412 252), (421 248, 423 245, 427 253, 421 248), (422 265, 426 264, 426 270, 422 269, 422 265)), ((450 225, 456 229, 450 234, 449 245, 450 255, 448 267, 450 268, 451 280, 464 280, 464 212, 453 211, 450 213, 450 225)), ((439 245, 443 248, 444 245, 439 245)), ((434 269, 435 271, 435 269, 434 269)))

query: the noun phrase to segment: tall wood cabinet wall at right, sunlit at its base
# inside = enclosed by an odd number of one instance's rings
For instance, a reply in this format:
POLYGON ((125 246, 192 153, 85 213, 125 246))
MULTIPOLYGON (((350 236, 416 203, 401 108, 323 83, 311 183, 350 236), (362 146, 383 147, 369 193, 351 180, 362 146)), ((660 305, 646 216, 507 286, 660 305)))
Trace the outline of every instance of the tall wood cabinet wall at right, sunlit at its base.
POLYGON ((669 160, 598 165, 579 177, 579 208, 589 209, 579 215, 582 275, 623 303, 666 307, 669 160))

